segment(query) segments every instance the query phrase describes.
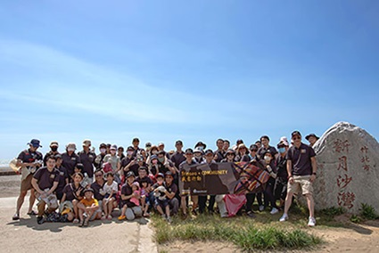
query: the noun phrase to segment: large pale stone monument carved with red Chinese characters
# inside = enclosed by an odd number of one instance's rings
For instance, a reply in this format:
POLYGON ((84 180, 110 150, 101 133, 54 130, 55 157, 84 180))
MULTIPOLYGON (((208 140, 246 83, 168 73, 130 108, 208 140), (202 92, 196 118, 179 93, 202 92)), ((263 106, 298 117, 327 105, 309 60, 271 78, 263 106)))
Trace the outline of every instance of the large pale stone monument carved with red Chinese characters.
POLYGON ((342 207, 357 214, 361 203, 379 212, 379 143, 366 130, 339 122, 313 147, 317 153, 315 208, 342 207))

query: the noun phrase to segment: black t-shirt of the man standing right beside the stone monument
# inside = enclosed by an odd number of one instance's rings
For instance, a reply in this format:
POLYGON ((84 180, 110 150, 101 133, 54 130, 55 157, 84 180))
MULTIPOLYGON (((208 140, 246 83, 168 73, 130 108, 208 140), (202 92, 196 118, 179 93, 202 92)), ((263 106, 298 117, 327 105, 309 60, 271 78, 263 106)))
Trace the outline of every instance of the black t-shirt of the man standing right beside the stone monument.
POLYGON ((311 175, 312 163, 310 158, 315 157, 315 151, 309 145, 301 143, 299 148, 291 146, 286 158, 292 161, 292 175, 311 175))

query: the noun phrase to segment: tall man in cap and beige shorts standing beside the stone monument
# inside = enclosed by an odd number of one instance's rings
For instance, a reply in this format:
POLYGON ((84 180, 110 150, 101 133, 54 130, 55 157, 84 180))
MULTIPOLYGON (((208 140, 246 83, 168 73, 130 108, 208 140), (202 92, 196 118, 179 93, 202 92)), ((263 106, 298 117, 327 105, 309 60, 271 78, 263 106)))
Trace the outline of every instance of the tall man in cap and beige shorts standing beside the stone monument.
POLYGON ((316 179, 317 162, 315 151, 304 143, 301 143, 301 133, 292 132, 293 146, 287 151, 288 189, 284 203, 284 214, 279 221, 288 219, 288 209, 292 204, 294 193, 302 192, 307 198, 309 208, 309 226, 316 225, 315 204, 313 201, 312 183, 316 179))

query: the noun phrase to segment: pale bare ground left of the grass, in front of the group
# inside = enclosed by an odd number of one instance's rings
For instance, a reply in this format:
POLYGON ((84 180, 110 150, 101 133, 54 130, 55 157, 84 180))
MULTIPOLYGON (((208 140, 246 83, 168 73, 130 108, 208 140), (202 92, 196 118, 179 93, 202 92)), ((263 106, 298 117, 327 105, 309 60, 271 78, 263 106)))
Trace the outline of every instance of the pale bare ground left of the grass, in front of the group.
POLYGON ((90 222, 87 228, 71 223, 37 224, 36 216, 26 215, 26 198, 21 220, 12 221, 19 185, 19 175, 0 176, 0 252, 157 252, 144 218, 119 222, 114 217, 90 222))

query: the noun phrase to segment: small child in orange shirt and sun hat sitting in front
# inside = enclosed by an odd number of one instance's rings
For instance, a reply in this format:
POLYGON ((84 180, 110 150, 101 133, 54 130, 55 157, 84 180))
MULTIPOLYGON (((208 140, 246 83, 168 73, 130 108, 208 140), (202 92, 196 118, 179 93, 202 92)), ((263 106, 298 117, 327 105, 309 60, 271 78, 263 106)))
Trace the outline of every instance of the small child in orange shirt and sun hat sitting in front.
POLYGON ((79 226, 87 226, 89 220, 94 220, 100 218, 101 212, 99 210, 99 204, 97 200, 94 199, 94 190, 88 188, 84 192, 84 199, 80 200, 78 203, 79 212, 79 226))

